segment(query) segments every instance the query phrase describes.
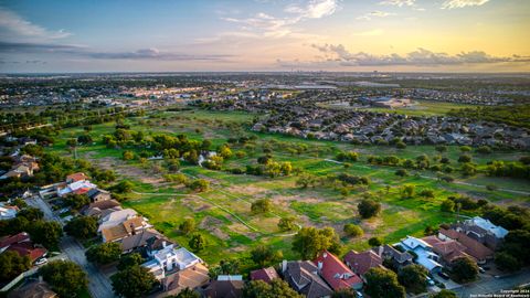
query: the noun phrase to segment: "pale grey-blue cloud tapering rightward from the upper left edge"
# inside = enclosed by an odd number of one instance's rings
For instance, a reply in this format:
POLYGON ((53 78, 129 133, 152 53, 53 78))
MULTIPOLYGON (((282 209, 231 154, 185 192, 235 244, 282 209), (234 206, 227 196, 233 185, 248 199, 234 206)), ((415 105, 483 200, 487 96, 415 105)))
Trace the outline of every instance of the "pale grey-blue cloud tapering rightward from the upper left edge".
POLYGON ((50 31, 43 26, 24 20, 13 11, 0 8, 0 36, 9 40, 56 40, 70 36, 71 33, 59 30, 50 31))

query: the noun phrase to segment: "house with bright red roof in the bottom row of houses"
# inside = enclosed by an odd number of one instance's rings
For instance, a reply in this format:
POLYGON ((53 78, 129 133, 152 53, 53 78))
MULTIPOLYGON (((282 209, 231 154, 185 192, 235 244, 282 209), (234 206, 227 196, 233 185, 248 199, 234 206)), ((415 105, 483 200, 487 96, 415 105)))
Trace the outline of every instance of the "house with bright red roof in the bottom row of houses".
POLYGON ((362 288, 361 278, 328 251, 320 252, 314 262, 320 276, 333 290, 362 288))

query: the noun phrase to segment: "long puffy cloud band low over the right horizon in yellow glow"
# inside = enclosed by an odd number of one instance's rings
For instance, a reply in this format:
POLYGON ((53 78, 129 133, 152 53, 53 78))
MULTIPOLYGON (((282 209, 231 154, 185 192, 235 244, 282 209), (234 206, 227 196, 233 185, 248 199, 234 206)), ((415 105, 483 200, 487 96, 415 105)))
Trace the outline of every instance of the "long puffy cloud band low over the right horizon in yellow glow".
POLYGON ((389 55, 373 55, 364 52, 351 53, 342 44, 312 44, 326 55, 325 61, 333 61, 342 66, 441 66, 441 65, 462 65, 462 64, 489 64, 489 63, 529 63, 528 56, 491 56, 483 51, 462 52, 456 55, 447 53, 436 53, 426 49, 418 47, 416 51, 405 55, 392 53, 389 55))

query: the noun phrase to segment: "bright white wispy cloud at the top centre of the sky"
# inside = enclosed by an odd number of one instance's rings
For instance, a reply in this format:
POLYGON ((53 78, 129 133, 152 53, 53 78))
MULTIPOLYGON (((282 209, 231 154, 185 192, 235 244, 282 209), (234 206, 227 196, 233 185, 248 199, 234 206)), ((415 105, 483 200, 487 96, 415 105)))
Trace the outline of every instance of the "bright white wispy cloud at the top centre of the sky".
POLYGON ((305 4, 290 4, 284 8, 287 17, 275 17, 265 12, 252 18, 221 18, 221 20, 240 23, 245 31, 258 31, 267 38, 282 38, 292 33, 292 26, 309 19, 321 19, 338 10, 338 0, 310 0, 305 4))

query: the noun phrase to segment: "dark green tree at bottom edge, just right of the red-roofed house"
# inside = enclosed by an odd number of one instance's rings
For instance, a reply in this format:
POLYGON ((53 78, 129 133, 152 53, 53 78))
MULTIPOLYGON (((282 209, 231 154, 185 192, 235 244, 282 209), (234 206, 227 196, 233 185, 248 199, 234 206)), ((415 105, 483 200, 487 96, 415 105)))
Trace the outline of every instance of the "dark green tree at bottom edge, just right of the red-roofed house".
POLYGON ((370 268, 364 274, 364 291, 372 298, 404 298, 405 288, 398 283, 395 273, 383 268, 370 268))

